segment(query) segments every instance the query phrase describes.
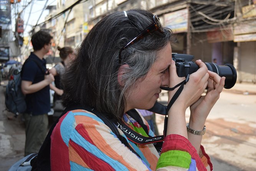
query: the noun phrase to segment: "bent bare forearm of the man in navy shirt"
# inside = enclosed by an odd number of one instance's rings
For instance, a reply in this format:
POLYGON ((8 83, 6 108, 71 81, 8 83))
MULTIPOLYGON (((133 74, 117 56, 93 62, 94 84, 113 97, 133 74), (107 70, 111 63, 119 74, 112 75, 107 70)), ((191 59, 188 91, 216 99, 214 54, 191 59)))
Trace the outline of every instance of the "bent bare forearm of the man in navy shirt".
POLYGON ((53 74, 45 75, 45 79, 40 81, 36 84, 32 84, 31 81, 21 81, 21 91, 23 94, 31 94, 34 92, 38 92, 39 90, 43 89, 44 87, 48 86, 51 82, 54 81, 53 74))

